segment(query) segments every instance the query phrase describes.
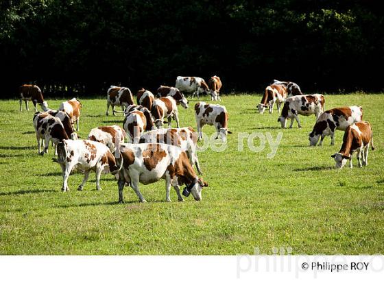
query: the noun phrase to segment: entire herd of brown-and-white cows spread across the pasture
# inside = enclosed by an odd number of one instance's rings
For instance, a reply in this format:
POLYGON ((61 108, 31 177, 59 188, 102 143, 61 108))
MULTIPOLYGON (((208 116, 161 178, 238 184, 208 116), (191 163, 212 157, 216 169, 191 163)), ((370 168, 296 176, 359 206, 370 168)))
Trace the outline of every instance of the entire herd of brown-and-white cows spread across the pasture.
MULTIPOLYGON (((88 180, 90 171, 96 173, 96 188, 101 189, 101 173, 112 173, 117 178, 119 203, 123 202, 123 188, 132 187, 141 202, 145 201, 139 190, 139 183, 151 184, 160 179, 165 180, 166 200, 171 201, 169 191, 175 189, 178 200, 192 194, 195 200, 202 199, 202 189, 208 184, 200 178, 202 174, 197 156, 197 142, 202 138, 202 127, 213 125, 217 138, 226 141, 228 134, 228 112, 225 106, 205 102, 195 104, 197 132, 192 127, 180 127, 178 106, 189 108, 184 95, 199 97, 211 95, 212 101, 220 101, 221 80, 211 77, 208 83, 200 77, 176 78, 175 86, 160 86, 155 95, 141 88, 136 93, 136 103, 129 88, 110 86, 107 91, 107 110, 112 114, 123 113, 123 126, 110 125, 95 127, 88 138, 79 140, 80 111, 82 103, 73 98, 64 101, 58 110, 48 108, 43 94, 36 85, 23 85, 20 88, 20 110, 22 101, 28 110, 28 101, 35 106, 33 124, 38 143, 38 154, 47 153, 49 143, 55 147, 58 162, 62 168, 62 191, 69 191, 68 178, 72 171, 82 171, 84 180, 78 190, 82 190, 88 180), (37 104, 43 109, 37 112, 37 104), (121 107, 116 110, 116 106, 121 107), (176 127, 172 127, 172 122, 176 127), (167 128, 164 125, 167 124, 167 128), (126 140, 126 143, 125 143, 126 140), (42 150, 42 145, 44 149, 42 150), (197 173, 193 169, 196 167, 197 173), (182 195, 180 186, 185 185, 182 195)), ((274 104, 280 114, 278 122, 285 128, 287 119, 292 127, 296 120, 301 127, 298 115, 314 114, 316 122, 309 134, 309 145, 322 145, 325 136, 331 136, 334 145, 335 130, 344 131, 343 144, 339 152, 332 157, 336 167, 342 168, 357 152, 359 167, 368 164, 368 150, 373 146, 372 128, 363 120, 360 106, 333 108, 324 111, 323 95, 303 95, 298 84, 274 80, 265 88, 261 102, 256 107, 260 114, 269 109, 273 113, 274 104), (282 108, 283 106, 283 108, 282 108), (362 162, 361 162, 362 159, 362 162)))

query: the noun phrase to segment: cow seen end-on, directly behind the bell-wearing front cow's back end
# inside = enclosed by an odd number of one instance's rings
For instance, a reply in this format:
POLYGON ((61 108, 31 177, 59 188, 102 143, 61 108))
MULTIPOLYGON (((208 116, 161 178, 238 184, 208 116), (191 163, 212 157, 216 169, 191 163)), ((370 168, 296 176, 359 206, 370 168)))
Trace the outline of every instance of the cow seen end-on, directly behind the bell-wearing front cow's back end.
POLYGON ((141 134, 147 129, 147 118, 139 110, 133 110, 125 115, 123 128, 127 132, 128 143, 139 143, 141 134))

